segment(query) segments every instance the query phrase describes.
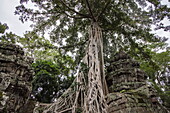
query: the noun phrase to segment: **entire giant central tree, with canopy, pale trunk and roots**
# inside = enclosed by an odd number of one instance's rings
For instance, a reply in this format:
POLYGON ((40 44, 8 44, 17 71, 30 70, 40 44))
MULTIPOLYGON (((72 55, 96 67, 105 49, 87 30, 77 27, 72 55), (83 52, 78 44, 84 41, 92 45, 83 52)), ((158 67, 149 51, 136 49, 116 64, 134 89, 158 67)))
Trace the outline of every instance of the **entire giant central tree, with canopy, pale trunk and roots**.
MULTIPOLYGON (((28 0, 21 0, 21 3, 25 1, 28 0)), ((169 18, 169 8, 161 5, 160 1, 33 0, 32 2, 41 10, 28 9, 21 4, 16 7, 15 12, 21 15, 20 20, 25 22, 30 19, 36 22, 34 31, 42 34, 51 28, 50 40, 57 43, 63 53, 67 51, 76 53, 76 59, 80 60, 85 55, 82 62, 88 67, 86 74, 80 70, 75 80, 78 85, 69 88, 64 93, 67 96, 58 98, 56 103, 44 112, 66 110, 75 112, 80 107, 87 113, 105 113, 107 105, 104 96, 108 92, 103 56, 107 60, 115 51, 138 49, 132 53, 148 57, 145 56, 147 54, 144 46, 165 40, 150 33, 153 23, 158 23, 165 17, 169 18), (148 10, 144 10, 145 7, 148 7, 148 10), (162 14, 158 14, 158 11, 162 14), (90 26, 89 33, 87 26, 90 26), (78 36, 79 33, 83 36, 78 36), (64 46, 63 42, 66 43, 64 46), (86 51, 81 51, 83 47, 87 47, 86 51), (71 92, 75 88, 76 91, 71 92), (78 102, 78 99, 82 101, 78 102), (60 108, 63 105, 68 106, 60 108)))

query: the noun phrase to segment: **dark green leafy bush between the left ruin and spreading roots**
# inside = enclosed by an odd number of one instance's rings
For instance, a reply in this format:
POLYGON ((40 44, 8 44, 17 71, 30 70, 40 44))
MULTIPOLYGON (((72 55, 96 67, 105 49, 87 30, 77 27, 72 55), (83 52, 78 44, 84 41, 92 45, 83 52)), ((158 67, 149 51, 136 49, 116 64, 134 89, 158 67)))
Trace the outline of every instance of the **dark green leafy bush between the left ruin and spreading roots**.
MULTIPOLYGON (((73 59, 55 49, 48 48, 49 45, 42 46, 44 47, 42 50, 33 49, 36 60, 33 63, 35 71, 33 94, 38 101, 45 103, 58 98, 75 78, 73 59)), ((33 47, 36 48, 36 46, 33 47)))

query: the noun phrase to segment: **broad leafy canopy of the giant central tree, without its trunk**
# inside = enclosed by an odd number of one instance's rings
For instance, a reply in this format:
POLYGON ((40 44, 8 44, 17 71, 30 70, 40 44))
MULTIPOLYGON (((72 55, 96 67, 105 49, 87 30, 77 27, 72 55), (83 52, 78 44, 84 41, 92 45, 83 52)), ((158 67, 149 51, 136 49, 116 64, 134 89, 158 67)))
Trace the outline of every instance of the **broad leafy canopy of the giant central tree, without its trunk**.
POLYGON ((150 33, 151 25, 169 17, 169 8, 154 0, 147 0, 148 6, 144 0, 32 0, 39 10, 26 8, 24 2, 27 1, 21 0, 22 4, 16 7, 15 13, 20 15, 20 20, 36 22, 36 33, 49 32, 50 41, 57 43, 62 51, 75 54, 76 60, 84 55, 82 50, 86 46, 91 21, 97 21, 103 29, 104 56, 108 60, 108 56, 121 48, 135 49, 138 48, 136 44, 145 46, 162 41, 162 37, 150 33), (144 10, 146 7, 149 7, 147 11, 144 10), (78 37, 79 33, 81 37, 78 37))

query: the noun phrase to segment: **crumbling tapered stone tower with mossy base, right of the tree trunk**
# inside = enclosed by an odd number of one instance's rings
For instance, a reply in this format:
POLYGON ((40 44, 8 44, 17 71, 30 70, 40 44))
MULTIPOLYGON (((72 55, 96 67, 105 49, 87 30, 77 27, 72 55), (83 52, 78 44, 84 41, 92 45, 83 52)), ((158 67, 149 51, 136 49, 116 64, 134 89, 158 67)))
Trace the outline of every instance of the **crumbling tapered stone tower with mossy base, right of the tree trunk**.
POLYGON ((106 78, 108 113, 168 113, 146 79, 138 62, 124 52, 116 54, 106 78))

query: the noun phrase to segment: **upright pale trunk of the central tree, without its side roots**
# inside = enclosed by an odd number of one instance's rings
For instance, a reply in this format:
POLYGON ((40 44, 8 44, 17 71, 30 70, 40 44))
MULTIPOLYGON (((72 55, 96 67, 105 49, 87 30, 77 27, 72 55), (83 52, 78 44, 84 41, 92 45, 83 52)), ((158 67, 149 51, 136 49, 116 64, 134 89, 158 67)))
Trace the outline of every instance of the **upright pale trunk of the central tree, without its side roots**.
POLYGON ((86 56, 83 59, 84 63, 89 67, 88 90, 84 106, 85 113, 107 113, 103 41, 101 28, 97 23, 92 24, 89 34, 89 45, 86 50, 86 56))

